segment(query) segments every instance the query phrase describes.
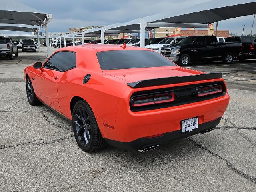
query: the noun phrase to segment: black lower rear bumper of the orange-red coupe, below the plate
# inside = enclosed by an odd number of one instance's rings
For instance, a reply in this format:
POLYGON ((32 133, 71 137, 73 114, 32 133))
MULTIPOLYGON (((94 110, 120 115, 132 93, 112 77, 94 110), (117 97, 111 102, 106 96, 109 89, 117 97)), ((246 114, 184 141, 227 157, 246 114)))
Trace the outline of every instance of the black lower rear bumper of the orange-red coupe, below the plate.
POLYGON ((144 138, 136 139, 132 142, 120 142, 120 141, 110 140, 106 138, 105 138, 105 141, 109 145, 115 146, 118 148, 123 148, 128 150, 141 150, 150 146, 160 145, 164 142, 186 138, 198 133, 203 134, 215 128, 220 123, 220 120, 221 120, 221 117, 214 121, 199 124, 196 130, 193 130, 192 132, 187 132, 187 133, 182 133, 181 130, 176 130, 176 131, 164 133, 160 137, 155 137, 155 138, 144 137, 144 138))

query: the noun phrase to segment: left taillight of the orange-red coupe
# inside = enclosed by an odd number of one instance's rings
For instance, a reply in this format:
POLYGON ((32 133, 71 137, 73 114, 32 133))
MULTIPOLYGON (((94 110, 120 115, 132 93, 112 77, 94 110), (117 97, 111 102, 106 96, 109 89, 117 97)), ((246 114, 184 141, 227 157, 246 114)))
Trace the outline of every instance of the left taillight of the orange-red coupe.
POLYGON ((148 94, 148 95, 134 96, 132 98, 132 106, 141 107, 141 106, 147 106, 147 105, 173 102, 174 100, 175 100, 174 92, 148 94))

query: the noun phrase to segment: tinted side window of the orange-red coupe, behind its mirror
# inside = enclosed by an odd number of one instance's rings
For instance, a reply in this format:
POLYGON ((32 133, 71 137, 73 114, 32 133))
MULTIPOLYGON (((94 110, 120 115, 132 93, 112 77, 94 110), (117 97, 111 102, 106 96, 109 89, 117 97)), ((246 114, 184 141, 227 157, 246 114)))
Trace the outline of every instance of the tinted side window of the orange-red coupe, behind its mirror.
POLYGON ((75 67, 76 54, 68 51, 57 52, 44 64, 44 68, 58 71, 67 71, 75 67))

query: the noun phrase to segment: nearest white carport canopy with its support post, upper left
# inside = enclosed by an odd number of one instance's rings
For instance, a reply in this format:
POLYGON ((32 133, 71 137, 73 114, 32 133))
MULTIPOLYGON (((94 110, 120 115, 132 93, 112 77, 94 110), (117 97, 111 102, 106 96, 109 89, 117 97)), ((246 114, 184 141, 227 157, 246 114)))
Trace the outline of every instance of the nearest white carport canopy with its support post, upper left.
POLYGON ((0 0, 0 23, 25 24, 45 28, 47 56, 50 56, 47 24, 52 19, 52 14, 46 14, 13 0, 0 0))

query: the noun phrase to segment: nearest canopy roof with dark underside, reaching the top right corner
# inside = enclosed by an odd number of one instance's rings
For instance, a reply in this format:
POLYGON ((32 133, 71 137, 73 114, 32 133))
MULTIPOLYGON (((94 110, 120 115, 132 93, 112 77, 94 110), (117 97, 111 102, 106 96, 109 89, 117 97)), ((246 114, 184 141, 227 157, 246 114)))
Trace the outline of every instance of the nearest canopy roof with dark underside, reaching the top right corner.
POLYGON ((256 14, 255 0, 211 0, 175 14, 164 14, 153 22, 209 24, 256 14))

